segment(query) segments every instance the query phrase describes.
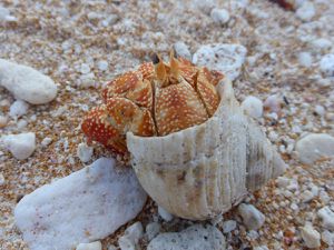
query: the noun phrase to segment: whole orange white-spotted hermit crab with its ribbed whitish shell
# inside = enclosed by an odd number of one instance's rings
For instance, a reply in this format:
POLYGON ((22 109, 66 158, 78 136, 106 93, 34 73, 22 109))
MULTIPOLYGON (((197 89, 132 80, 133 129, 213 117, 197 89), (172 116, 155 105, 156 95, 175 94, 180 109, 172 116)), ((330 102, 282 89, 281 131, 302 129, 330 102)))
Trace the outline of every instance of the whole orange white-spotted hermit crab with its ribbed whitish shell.
POLYGON ((235 99, 230 81, 171 52, 111 81, 82 122, 89 140, 129 154, 148 194, 206 220, 283 173, 285 163, 235 99))

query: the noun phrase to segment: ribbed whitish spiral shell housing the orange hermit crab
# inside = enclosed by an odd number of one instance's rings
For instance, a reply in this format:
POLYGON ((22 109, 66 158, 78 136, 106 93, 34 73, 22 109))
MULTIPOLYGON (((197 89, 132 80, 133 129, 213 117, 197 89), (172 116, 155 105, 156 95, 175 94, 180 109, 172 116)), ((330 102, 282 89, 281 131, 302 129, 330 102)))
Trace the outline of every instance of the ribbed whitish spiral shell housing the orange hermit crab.
POLYGON ((165 137, 127 133, 131 164, 144 189, 185 219, 226 212, 285 170, 261 128, 243 114, 232 83, 225 79, 217 90, 217 111, 199 126, 165 137))

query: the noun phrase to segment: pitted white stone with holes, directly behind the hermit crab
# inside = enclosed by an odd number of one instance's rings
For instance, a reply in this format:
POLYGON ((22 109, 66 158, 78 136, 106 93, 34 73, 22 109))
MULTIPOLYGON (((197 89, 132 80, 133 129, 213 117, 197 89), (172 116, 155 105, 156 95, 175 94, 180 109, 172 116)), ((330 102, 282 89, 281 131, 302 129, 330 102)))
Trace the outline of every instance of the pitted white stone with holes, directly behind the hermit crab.
POLYGON ((235 80, 246 60, 247 49, 239 44, 213 43, 202 46, 194 54, 193 62, 224 73, 235 80))

